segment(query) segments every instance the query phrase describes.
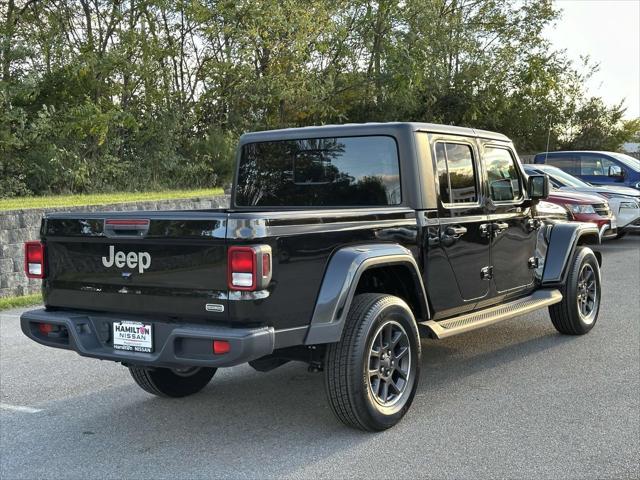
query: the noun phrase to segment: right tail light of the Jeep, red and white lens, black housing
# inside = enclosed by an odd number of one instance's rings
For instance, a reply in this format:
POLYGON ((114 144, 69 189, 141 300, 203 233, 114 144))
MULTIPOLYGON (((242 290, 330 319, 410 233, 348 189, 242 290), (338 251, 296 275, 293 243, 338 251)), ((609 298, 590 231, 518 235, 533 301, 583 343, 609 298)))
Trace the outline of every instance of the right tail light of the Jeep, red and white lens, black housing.
POLYGON ((271 281, 271 247, 229 247, 227 269, 229 290, 263 290, 271 281))

